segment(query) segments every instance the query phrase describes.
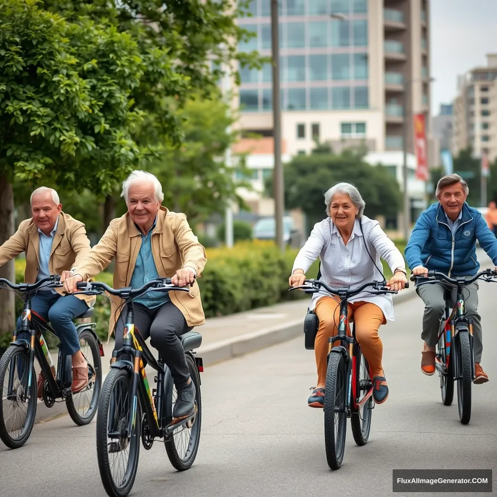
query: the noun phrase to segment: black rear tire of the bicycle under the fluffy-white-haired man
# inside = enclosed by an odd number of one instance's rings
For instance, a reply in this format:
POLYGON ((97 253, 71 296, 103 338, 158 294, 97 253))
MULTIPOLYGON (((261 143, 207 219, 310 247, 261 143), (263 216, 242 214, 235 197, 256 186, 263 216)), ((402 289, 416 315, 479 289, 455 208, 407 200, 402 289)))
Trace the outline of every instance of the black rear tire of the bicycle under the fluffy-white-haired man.
POLYGON ((198 445, 200 443, 200 431, 202 426, 202 397, 200 395, 200 378, 195 361, 194 359, 192 359, 190 354, 186 354, 186 364, 188 364, 188 368, 190 369, 191 381, 193 381, 193 384, 195 385, 195 402, 197 403, 198 411, 197 415, 195 416, 195 422, 191 427, 186 458, 182 458, 178 454, 178 450, 174 442, 173 433, 171 433, 164 439, 167 457, 169 458, 172 467, 177 471, 187 470, 195 461, 198 452, 198 445))

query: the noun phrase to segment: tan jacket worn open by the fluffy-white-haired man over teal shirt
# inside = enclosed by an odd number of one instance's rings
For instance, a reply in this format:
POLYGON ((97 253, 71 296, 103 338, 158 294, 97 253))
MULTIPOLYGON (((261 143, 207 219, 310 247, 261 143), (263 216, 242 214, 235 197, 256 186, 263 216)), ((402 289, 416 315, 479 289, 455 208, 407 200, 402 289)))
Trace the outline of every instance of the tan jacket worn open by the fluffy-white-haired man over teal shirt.
MULTIPOLYGON (((115 257, 113 288, 130 286, 141 245, 140 232, 129 213, 126 213, 110 222, 98 244, 77 265, 75 274, 80 274, 83 280, 93 278, 115 257)), ((207 261, 205 249, 193 234, 186 216, 170 212, 166 207, 161 206, 157 213, 151 245, 157 272, 162 278, 174 276, 178 269, 185 266, 193 267, 199 277, 207 261)), ((200 326, 205 323, 200 289, 196 281, 189 287, 189 292, 169 292, 169 298, 181 311, 188 326, 200 326)), ((122 304, 121 298, 111 297, 109 338, 122 309, 118 312, 118 308, 122 304)))

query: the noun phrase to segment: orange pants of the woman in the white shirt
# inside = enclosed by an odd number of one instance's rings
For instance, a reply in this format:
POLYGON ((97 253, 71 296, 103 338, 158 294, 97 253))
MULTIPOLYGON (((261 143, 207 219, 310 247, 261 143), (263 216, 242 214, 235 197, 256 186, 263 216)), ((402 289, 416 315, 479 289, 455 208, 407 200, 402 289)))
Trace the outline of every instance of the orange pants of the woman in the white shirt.
MULTIPOLYGON (((314 310, 319 319, 319 328, 316 335, 314 351, 318 367, 318 386, 324 388, 326 382, 327 357, 330 351, 330 336, 338 334, 337 324, 340 316, 340 302, 338 297, 322 297, 314 310)), ((354 302, 348 304, 348 321, 354 318, 355 337, 361 346, 361 351, 369 363, 371 375, 383 376, 381 364, 383 343, 378 336, 381 325, 386 323, 382 310, 371 302, 354 302)), ((333 343, 339 345, 339 341, 333 343)))

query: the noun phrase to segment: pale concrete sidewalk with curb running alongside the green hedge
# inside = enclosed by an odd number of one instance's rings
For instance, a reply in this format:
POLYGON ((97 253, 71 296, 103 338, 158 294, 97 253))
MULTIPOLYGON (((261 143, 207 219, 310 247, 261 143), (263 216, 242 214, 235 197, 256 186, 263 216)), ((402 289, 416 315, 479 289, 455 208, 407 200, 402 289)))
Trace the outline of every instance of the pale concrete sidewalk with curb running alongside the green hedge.
MULTIPOLYGON (((480 270, 493 267, 490 258, 482 249, 477 249, 480 270)), ((398 294, 392 295, 394 304, 411 299, 416 295, 414 282, 410 281, 410 287, 398 294)), ((311 296, 302 300, 284 302, 268 307, 261 307, 251 311, 222 316, 220 318, 207 318, 203 326, 194 331, 202 334, 202 345, 196 350, 197 356, 203 360, 204 367, 218 362, 226 361, 237 356, 245 355, 256 350, 282 343, 296 336, 301 336, 304 346, 304 317, 311 296)), ((150 340, 147 340, 150 344, 150 340)), ((107 375, 110 368, 110 358, 114 349, 114 340, 103 343, 104 357, 102 357, 102 377, 107 375)), ((151 352, 157 358, 157 351, 150 347, 151 352)), ((50 350, 54 363, 57 361, 57 349, 50 350)), ((38 373, 39 366, 35 361, 35 369, 38 373)), ((153 378, 156 372, 147 366, 145 369, 151 388, 154 388, 153 378)), ((36 421, 45 421, 54 417, 67 414, 65 403, 55 403, 48 409, 43 401, 38 401, 36 421)))

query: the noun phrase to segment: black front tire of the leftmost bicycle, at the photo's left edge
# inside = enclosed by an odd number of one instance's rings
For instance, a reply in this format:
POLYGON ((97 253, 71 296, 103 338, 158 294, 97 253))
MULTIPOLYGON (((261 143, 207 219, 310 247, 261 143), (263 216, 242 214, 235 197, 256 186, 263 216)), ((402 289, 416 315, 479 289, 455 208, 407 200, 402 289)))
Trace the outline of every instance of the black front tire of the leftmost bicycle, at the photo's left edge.
MULTIPOLYGON (((29 355, 26 354, 25 350, 18 345, 10 345, 7 350, 3 353, 0 359, 0 385, 2 386, 2 397, 3 397, 3 384, 5 382, 5 374, 7 373, 7 367, 10 361, 15 358, 16 355, 23 355, 26 358, 26 364, 29 362, 29 355)), ((18 449, 22 447, 31 432, 33 431, 34 422, 36 420, 36 408, 38 406, 38 400, 36 398, 36 372, 34 365, 31 365, 31 387, 29 392, 28 400, 28 411, 26 413, 26 421, 23 429, 18 438, 13 438, 9 435, 7 426, 5 425, 5 419, 3 417, 3 401, 0 405, 0 439, 1 441, 10 449, 18 449)))

